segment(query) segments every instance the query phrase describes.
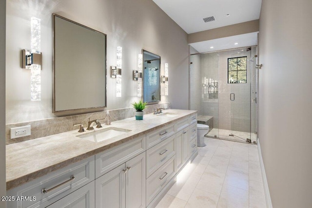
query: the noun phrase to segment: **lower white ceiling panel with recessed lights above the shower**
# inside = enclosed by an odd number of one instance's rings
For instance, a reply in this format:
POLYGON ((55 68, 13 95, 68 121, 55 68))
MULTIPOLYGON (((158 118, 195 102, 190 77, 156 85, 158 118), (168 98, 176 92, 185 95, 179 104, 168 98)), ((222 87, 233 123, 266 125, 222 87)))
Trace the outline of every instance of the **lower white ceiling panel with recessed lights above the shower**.
POLYGON ((257 32, 191 43, 199 53, 257 45, 257 32), (238 44, 235 44, 238 43, 238 44), (214 48, 210 48, 214 47, 214 48))

